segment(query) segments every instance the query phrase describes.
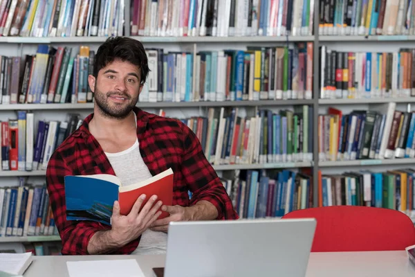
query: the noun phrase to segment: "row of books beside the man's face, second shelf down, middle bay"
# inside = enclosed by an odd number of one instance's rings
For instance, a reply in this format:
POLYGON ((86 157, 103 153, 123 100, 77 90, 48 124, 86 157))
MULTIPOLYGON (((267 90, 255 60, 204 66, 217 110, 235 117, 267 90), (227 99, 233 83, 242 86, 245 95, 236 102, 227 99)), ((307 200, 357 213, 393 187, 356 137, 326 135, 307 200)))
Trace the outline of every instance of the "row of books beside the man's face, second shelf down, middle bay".
POLYGON ((140 102, 313 98, 311 42, 196 55, 154 48, 147 56, 151 71, 140 102))

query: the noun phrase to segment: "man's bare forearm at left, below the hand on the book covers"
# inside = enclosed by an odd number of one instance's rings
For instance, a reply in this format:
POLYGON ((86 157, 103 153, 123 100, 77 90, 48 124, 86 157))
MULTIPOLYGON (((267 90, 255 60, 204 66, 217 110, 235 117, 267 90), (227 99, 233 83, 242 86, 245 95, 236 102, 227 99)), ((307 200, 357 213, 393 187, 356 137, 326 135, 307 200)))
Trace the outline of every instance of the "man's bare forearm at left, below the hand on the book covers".
POLYGON ((98 231, 95 233, 88 243, 88 253, 90 255, 104 254, 122 247, 109 231, 98 231))

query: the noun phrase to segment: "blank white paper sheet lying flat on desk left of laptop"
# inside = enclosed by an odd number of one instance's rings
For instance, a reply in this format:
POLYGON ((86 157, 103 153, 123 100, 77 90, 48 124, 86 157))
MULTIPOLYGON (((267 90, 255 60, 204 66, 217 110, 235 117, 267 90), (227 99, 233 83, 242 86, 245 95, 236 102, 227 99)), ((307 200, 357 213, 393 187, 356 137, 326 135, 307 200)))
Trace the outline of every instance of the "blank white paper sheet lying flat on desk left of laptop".
POLYGON ((70 277, 145 277, 135 259, 66 262, 70 277))

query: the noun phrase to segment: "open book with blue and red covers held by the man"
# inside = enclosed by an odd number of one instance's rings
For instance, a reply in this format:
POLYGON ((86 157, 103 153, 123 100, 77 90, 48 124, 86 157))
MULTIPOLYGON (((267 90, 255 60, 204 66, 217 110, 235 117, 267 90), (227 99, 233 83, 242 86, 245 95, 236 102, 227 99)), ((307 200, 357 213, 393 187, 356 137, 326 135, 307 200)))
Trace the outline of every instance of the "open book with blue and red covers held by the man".
MULTIPOLYGON (((66 220, 92 220, 111 225, 113 203, 120 202, 120 214, 128 215, 138 197, 157 195, 164 205, 172 205, 173 170, 169 168, 147 180, 122 186, 114 175, 65 176, 66 220)), ((163 212, 160 217, 167 217, 163 212)))

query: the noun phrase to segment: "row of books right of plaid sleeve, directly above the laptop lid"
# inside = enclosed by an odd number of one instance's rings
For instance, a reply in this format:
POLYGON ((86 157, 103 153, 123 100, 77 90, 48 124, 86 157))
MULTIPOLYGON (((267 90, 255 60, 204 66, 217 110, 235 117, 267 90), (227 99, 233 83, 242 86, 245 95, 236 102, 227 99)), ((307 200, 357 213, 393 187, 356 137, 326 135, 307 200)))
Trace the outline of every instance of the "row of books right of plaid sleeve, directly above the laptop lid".
POLYGON ((239 217, 282 217, 313 206, 313 178, 308 173, 241 170, 233 180, 221 181, 239 217))

